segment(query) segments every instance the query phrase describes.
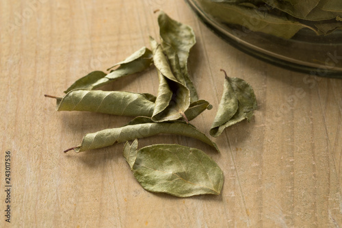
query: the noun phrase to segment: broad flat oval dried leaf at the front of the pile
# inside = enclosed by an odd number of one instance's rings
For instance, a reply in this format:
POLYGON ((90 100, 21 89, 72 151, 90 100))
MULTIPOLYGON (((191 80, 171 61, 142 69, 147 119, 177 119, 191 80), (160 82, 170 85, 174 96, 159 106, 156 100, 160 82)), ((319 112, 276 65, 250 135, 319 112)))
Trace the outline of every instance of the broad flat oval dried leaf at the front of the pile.
POLYGON ((145 190, 176 197, 220 194, 224 176, 211 157, 178 144, 155 144, 137 151, 137 142, 124 146, 124 157, 145 190), (133 167, 132 164, 133 163, 133 167))

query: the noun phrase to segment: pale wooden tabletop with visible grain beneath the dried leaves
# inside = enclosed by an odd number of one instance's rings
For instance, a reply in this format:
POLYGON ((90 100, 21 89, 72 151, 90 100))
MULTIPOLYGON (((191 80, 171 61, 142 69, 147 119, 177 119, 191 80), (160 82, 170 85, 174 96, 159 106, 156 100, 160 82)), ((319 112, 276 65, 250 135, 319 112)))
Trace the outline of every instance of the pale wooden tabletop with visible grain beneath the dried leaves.
MULTIPOLYGON (((342 225, 342 80, 271 66, 215 36, 184 1, 1 1, 0 227, 339 227, 342 225), (83 134, 131 118, 55 112, 76 79, 126 58, 158 38, 157 14, 191 25, 197 44, 189 71, 213 110, 192 121, 209 134, 222 94, 224 68, 246 79, 259 103, 243 122, 213 139, 221 150, 181 136, 224 171, 220 196, 187 199, 146 192, 122 157, 122 144, 67 153, 83 134), (10 151, 11 223, 5 222, 5 151, 10 151)), ((341 50, 339 55, 342 55, 341 50)), ((155 69, 104 90, 157 94, 155 69)))

